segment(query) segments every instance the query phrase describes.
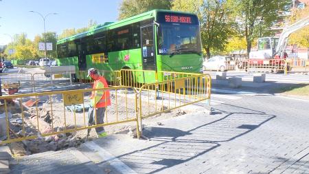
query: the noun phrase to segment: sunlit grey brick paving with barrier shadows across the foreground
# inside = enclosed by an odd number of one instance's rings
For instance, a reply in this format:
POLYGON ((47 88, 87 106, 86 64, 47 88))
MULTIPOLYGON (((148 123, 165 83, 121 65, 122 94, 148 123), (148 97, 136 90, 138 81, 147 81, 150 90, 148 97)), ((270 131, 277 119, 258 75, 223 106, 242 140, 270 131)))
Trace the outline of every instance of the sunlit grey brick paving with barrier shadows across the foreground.
POLYGON ((213 99, 212 115, 195 106, 194 114, 147 125, 149 141, 110 135, 80 146, 79 159, 102 173, 309 173, 309 101, 268 94, 213 99))

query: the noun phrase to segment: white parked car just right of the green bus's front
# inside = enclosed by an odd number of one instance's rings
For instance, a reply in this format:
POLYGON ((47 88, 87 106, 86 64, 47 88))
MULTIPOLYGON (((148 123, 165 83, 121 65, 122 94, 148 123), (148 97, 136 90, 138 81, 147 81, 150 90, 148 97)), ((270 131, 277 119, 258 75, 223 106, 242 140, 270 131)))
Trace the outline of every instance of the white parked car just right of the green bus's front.
POLYGON ((229 56, 214 56, 203 62, 203 70, 220 70, 221 72, 235 69, 235 61, 229 56))

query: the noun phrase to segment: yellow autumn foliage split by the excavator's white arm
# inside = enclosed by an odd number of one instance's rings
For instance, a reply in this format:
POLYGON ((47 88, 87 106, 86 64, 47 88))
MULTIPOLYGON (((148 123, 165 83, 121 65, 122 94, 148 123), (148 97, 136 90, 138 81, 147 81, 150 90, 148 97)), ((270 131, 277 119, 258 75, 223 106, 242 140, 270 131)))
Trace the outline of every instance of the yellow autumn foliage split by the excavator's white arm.
MULTIPOLYGON (((305 17, 308 17, 308 14, 308 6, 302 10, 295 10, 295 12, 293 12, 293 15, 290 17, 290 24, 304 19, 305 17)), ((309 26, 291 34, 288 43, 297 45, 298 47, 309 47, 309 26)))

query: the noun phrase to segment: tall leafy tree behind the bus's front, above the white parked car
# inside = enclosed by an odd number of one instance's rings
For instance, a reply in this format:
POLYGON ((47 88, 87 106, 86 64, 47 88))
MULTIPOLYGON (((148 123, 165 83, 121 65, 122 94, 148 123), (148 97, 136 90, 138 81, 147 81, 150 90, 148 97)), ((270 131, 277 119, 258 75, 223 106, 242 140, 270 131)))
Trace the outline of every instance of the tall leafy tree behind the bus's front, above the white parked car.
POLYGON ((197 14, 201 22, 203 48, 207 57, 211 52, 222 51, 229 36, 233 35, 233 19, 229 0, 174 0, 172 10, 197 14))

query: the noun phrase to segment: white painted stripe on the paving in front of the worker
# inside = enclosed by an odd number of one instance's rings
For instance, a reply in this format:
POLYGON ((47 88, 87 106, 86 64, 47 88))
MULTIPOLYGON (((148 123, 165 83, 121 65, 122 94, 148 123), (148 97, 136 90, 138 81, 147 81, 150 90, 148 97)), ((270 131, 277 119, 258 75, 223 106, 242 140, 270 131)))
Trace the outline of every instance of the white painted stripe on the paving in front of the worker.
POLYGON ((114 155, 103 149, 101 146, 98 146, 98 144, 95 144, 95 142, 89 142, 86 143, 85 145, 89 147, 89 149, 92 149, 93 151, 98 153, 100 157, 106 160, 106 162, 108 162, 111 166, 116 168, 116 170, 119 171, 120 173, 136 173, 135 171, 133 171, 132 168, 124 164, 124 162, 119 160, 117 157, 115 157, 114 155))

